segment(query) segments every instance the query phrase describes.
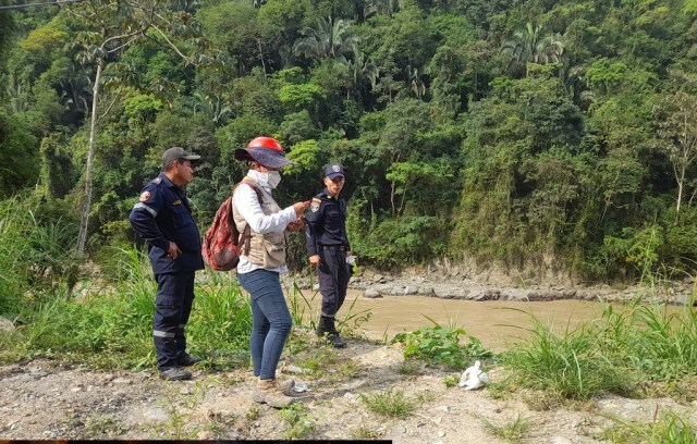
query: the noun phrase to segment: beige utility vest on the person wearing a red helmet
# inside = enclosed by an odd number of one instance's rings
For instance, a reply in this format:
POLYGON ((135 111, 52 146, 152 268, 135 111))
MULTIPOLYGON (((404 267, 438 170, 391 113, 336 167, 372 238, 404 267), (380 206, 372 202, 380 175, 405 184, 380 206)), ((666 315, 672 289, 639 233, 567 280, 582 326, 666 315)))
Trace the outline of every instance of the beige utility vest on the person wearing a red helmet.
MULTIPOLYGON (((281 211, 281 207, 273 200, 271 195, 259 187, 254 178, 247 176, 244 181, 253 183, 261 192, 261 211, 264 214, 268 215, 281 211)), ((234 193, 237 193, 237 189, 239 187, 235 187, 234 193)), ((240 233, 244 232, 244 229, 247 226, 247 221, 240 214, 234 203, 232 206, 232 217, 240 233)), ((245 255, 252 263, 266 269, 285 266, 285 249, 288 248, 288 233, 285 230, 267 234, 260 234, 250 230, 249 235, 249 251, 246 252, 243 246, 242 254, 245 255)))

